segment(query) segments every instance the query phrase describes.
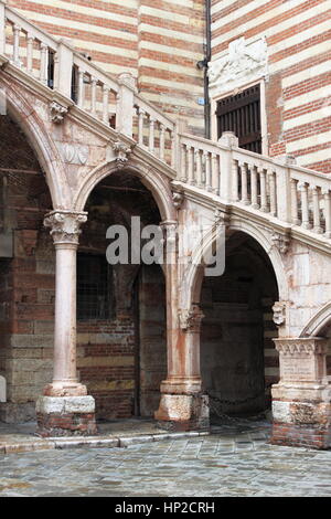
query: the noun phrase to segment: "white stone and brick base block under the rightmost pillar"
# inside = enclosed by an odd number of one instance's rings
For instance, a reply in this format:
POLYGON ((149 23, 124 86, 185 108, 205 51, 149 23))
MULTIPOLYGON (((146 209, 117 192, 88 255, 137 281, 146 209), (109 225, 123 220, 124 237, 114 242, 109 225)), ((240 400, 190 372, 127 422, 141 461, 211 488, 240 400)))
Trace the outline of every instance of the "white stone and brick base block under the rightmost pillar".
POLYGON ((330 403, 274 401, 273 416, 271 444, 331 448, 330 403))

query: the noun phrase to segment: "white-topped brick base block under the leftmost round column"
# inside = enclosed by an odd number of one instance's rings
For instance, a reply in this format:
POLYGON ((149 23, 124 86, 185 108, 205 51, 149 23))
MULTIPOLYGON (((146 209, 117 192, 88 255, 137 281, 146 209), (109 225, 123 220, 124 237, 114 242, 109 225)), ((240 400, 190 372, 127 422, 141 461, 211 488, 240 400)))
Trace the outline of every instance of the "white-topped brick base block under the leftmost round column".
POLYGON ((36 434, 42 437, 96 435, 94 398, 40 396, 36 423, 36 434))

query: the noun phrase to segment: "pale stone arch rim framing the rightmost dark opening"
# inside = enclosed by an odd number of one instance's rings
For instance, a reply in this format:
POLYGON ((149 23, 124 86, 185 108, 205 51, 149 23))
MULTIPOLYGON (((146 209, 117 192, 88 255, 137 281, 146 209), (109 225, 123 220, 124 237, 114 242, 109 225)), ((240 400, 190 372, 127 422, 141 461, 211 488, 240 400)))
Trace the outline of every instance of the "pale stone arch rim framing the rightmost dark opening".
MULTIPOLYGON (((261 248, 268 255, 270 263, 274 268, 274 273, 277 279, 278 293, 280 300, 288 299, 288 283, 285 273, 281 255, 277 247, 271 242, 270 233, 260 230, 254 223, 248 221, 232 221, 227 226, 229 232, 242 232, 252 236, 261 246, 261 248)), ((192 263, 186 272, 184 289, 181 293, 181 306, 182 308, 189 309, 192 304, 200 300, 200 292, 204 277, 204 267, 201 264, 203 254, 211 250, 215 241, 215 230, 212 230, 209 235, 205 236, 204 243, 200 244, 192 254, 192 263)))

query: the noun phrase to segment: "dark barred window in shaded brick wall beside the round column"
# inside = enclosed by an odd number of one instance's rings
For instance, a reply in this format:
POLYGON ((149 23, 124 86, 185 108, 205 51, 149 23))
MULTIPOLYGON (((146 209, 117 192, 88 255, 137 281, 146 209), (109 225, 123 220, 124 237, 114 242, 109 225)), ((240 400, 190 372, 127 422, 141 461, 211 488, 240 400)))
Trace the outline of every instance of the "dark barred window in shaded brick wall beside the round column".
POLYGON ((108 319, 111 315, 111 267, 105 255, 77 255, 77 319, 108 319))

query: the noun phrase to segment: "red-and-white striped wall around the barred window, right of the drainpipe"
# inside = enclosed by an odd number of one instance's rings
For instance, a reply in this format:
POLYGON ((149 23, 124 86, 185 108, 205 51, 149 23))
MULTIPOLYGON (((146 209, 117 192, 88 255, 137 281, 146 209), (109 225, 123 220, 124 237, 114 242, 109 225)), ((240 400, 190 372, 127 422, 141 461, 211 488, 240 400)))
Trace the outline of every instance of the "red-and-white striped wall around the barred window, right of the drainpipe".
POLYGON ((330 0, 212 0, 213 61, 239 36, 266 38, 269 153, 323 172, 331 172, 330 18, 330 0))

